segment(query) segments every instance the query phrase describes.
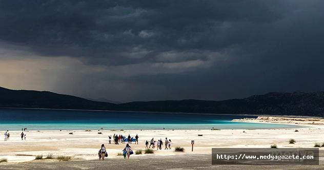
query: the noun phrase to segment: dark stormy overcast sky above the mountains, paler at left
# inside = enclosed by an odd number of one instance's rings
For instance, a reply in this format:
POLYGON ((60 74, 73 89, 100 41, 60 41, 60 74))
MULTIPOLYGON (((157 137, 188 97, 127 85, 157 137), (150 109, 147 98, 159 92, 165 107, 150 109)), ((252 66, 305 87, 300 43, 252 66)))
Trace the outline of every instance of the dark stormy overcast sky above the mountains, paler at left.
POLYGON ((123 102, 324 91, 323 7, 0 0, 0 86, 123 102))

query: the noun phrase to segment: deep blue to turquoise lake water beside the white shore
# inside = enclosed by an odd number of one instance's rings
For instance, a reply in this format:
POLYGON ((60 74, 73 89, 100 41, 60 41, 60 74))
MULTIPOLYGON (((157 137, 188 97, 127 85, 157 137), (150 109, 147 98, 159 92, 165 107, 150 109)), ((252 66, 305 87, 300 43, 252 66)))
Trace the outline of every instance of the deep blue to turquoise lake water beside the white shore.
POLYGON ((232 122, 256 116, 148 113, 114 111, 75 111, 0 109, 0 130, 205 130, 296 128, 296 125, 232 122))

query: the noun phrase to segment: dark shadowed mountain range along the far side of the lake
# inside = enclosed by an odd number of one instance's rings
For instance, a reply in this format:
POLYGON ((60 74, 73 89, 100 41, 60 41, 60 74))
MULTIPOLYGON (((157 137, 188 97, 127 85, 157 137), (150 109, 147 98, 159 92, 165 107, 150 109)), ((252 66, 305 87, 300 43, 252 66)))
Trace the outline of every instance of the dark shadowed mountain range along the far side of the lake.
POLYGON ((300 115, 324 117, 324 92, 267 93, 221 101, 164 100, 110 103, 47 91, 0 87, 0 108, 44 108, 211 114, 300 115))

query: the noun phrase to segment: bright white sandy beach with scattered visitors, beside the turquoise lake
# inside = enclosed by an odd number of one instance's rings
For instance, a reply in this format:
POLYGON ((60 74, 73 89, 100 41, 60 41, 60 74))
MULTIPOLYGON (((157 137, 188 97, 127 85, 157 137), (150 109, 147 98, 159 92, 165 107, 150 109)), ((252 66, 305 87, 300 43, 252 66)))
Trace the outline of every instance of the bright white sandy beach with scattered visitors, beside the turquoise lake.
MULTIPOLYGON (((236 120, 239 121, 239 120, 236 120)), ((258 122, 259 120, 249 120, 258 122)), ((289 123, 289 121, 281 122, 289 123)), ((290 122, 296 123, 296 122, 290 122)), ((106 145, 109 159, 123 159, 117 156, 126 144, 108 144, 108 135, 139 136, 139 144, 131 144, 133 150, 144 150, 146 140, 166 137, 172 140, 172 150, 158 150, 153 155, 168 157, 185 154, 210 154, 212 147, 313 147, 314 143, 323 143, 324 125, 306 123, 301 128, 267 129, 267 130, 126 130, 126 131, 29 131, 25 132, 27 140, 19 137, 21 131, 9 131, 10 140, 4 141, 4 131, 1 132, 0 159, 7 158, 7 163, 32 161, 36 155, 51 153, 54 157, 71 156, 73 160, 95 160, 102 143, 106 145), (298 132, 295 132, 298 130, 298 132), (73 132, 73 135, 69 133, 73 132), (198 134, 202 136, 198 136, 198 134), (295 139, 295 144, 289 144, 289 139, 295 139), (191 152, 191 140, 195 140, 194 151, 191 152), (175 146, 185 148, 184 153, 174 151, 175 146)), ((321 150, 321 148, 320 148, 321 150)), ((149 157, 150 155, 132 155, 133 157, 149 157)), ((53 161, 53 160, 48 160, 53 161)), ((5 162, 3 162, 6 164, 5 162)))

